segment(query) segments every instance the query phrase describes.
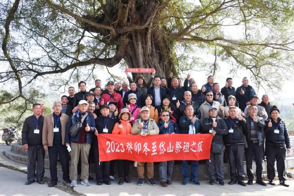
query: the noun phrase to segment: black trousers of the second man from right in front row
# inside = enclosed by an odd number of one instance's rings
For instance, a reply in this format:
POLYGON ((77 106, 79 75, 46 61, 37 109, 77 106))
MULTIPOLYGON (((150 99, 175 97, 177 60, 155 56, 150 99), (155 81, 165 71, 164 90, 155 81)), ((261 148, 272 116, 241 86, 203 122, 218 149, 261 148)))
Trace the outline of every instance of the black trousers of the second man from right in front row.
POLYGON ((262 181, 262 157, 263 157, 263 144, 253 143, 250 141, 248 148, 245 148, 246 156, 246 171, 249 180, 253 180, 253 157, 255 158, 256 164, 256 181, 262 181))

